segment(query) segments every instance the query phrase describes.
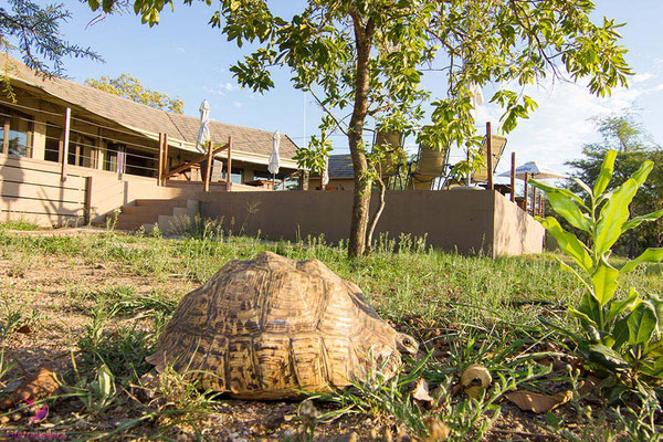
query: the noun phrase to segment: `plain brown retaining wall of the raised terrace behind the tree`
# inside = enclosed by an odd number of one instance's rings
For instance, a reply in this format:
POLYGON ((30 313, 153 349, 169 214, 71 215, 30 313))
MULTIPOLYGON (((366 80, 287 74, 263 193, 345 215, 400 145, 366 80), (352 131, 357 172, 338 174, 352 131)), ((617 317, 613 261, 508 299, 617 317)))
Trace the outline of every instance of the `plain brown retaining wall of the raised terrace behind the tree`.
MULTIPOLYGON (((371 212, 377 206, 373 193, 371 212)), ((351 191, 199 193, 203 217, 223 219, 227 229, 278 240, 324 234, 337 242, 349 236, 351 191)), ((377 227, 389 232, 427 235, 428 243, 461 253, 517 255, 540 253, 544 229, 498 192, 476 190, 388 191, 377 227)))

